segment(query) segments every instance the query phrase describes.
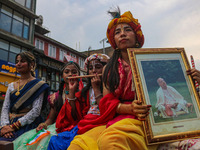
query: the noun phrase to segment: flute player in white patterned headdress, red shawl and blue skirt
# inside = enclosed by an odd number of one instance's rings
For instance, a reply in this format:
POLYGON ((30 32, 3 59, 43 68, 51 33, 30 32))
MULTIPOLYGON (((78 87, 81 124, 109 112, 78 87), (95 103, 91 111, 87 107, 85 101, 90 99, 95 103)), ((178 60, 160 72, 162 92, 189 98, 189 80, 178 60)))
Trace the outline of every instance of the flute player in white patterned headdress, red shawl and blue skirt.
POLYGON ((77 126, 69 124, 70 116, 66 114, 69 110, 69 103, 76 103, 76 110, 81 115, 76 115, 77 122, 81 119, 95 119, 99 117, 99 100, 102 98, 102 80, 99 74, 102 74, 103 66, 107 63, 109 57, 105 54, 93 54, 85 60, 85 68, 88 75, 94 75, 88 78, 87 85, 77 94, 75 101, 66 102, 62 107, 56 120, 58 136, 53 136, 49 142, 48 149, 67 149, 74 136, 79 130, 77 126), (78 117, 79 116, 79 117, 78 117))

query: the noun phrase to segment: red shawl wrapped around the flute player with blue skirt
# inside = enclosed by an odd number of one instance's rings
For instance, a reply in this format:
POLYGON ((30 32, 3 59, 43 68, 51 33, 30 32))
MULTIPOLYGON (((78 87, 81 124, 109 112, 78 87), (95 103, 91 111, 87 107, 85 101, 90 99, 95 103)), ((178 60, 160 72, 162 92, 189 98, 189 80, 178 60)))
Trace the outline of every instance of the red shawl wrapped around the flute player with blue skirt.
MULTIPOLYGON (((89 91, 87 93, 89 95, 89 91)), ((89 110, 90 102, 89 98, 85 100, 81 96, 81 91, 77 92, 75 94, 77 97, 77 100, 75 101, 76 105, 76 117, 77 119, 74 120, 71 115, 71 105, 66 100, 65 104, 62 106, 58 117, 56 119, 56 131, 57 133, 64 132, 64 131, 70 131, 73 127, 77 125, 77 123, 83 119, 83 116, 85 116, 89 110)), ((87 96, 89 97, 89 96, 87 96)))

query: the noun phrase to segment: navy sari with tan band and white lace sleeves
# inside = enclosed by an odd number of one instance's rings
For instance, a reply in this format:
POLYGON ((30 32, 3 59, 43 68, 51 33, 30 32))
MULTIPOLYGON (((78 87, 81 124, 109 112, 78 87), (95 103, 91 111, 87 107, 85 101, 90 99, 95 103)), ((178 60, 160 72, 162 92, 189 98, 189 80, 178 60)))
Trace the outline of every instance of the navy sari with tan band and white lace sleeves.
POLYGON ((14 137, 4 138, 0 136, 0 140, 13 141, 43 122, 40 113, 48 93, 49 86, 39 79, 28 82, 19 91, 14 89, 14 83, 10 83, 2 107, 1 126, 20 121, 21 127, 13 132, 14 137))

